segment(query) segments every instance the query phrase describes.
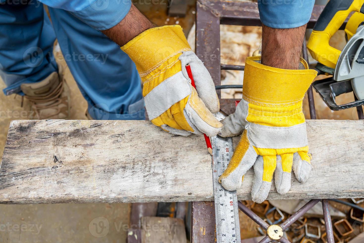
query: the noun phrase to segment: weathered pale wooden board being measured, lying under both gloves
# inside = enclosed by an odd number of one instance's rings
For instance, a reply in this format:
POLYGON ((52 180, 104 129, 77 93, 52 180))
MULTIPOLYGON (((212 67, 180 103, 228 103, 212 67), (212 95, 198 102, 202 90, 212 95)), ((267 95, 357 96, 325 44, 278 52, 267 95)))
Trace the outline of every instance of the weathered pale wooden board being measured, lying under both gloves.
MULTIPOLYGON (((268 199, 364 197, 364 122, 308 120, 313 171, 268 199)), ((234 145, 238 137, 234 138, 234 145)), ((149 121, 13 121, 0 166, 0 203, 211 201, 203 136, 149 121)), ((238 198, 250 199, 253 171, 238 198)))

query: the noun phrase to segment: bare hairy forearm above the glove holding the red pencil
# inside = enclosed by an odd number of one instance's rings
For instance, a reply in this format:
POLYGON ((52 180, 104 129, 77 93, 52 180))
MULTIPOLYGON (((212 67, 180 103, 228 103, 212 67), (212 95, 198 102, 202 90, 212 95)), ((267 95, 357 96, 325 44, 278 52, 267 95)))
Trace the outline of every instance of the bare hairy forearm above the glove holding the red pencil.
POLYGON ((133 4, 125 18, 108 30, 102 33, 119 46, 124 46, 135 36, 150 28, 156 27, 146 16, 144 16, 133 4))

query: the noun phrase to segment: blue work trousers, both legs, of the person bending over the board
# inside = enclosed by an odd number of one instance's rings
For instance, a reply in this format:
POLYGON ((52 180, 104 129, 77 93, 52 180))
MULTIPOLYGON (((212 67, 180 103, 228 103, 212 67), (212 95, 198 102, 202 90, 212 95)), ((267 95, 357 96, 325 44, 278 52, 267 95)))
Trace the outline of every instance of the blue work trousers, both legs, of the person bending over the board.
POLYGON ((5 94, 21 83, 38 82, 57 70, 57 37, 68 67, 94 119, 145 119, 141 81, 131 59, 101 32, 69 12, 49 8, 52 24, 37 1, 1 4, 0 75, 5 94))

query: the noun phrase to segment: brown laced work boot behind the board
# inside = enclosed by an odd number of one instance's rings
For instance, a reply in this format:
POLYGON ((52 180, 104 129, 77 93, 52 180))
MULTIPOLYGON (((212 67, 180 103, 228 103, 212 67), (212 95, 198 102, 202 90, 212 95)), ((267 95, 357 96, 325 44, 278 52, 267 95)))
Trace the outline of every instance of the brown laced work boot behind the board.
POLYGON ((25 106, 34 111, 32 119, 68 119, 70 114, 70 90, 57 72, 36 83, 23 83, 20 88, 25 106))

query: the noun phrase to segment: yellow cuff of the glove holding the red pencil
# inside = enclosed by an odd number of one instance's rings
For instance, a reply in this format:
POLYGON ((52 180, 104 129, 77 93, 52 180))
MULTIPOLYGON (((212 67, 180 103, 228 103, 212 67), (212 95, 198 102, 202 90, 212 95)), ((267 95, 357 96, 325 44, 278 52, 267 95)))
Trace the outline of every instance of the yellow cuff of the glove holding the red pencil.
POLYGON ((146 30, 120 47, 135 62, 141 77, 145 77, 163 62, 183 51, 191 51, 179 25, 146 30))

